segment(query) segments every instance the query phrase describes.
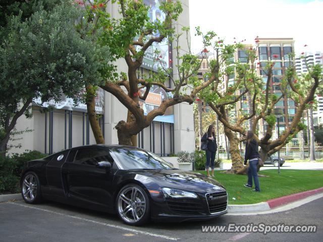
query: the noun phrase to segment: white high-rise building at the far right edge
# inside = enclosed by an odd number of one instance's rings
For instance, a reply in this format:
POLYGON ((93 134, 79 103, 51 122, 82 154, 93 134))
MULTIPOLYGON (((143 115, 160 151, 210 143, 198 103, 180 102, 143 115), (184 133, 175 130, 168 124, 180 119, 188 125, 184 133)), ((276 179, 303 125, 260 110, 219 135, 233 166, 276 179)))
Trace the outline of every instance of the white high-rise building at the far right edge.
MULTIPOLYGON (((307 67, 320 64, 323 67, 323 52, 316 51, 315 53, 304 53, 305 58, 297 56, 295 58, 295 67, 298 76, 308 72, 307 67)), ((323 124, 323 97, 316 96, 317 108, 313 110, 314 125, 323 124)))

